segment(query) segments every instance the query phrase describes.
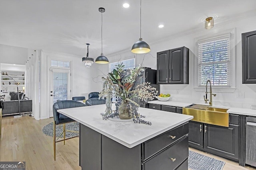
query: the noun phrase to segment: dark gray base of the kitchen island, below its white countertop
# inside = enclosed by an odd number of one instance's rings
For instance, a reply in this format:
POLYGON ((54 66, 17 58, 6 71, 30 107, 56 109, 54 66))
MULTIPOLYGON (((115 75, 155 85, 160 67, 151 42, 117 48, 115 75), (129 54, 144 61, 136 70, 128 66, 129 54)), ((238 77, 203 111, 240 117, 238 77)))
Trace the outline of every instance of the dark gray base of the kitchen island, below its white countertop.
POLYGON ((188 169, 188 122, 132 148, 80 124, 79 144, 82 170, 188 169))

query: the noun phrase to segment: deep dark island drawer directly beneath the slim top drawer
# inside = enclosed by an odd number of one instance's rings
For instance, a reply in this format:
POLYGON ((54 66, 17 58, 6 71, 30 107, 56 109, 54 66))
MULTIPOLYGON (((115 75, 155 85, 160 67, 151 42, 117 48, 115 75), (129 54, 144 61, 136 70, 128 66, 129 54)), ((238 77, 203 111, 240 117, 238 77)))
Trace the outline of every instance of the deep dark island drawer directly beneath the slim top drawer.
POLYGON ((175 170, 187 158, 188 137, 145 162, 143 170, 175 170))

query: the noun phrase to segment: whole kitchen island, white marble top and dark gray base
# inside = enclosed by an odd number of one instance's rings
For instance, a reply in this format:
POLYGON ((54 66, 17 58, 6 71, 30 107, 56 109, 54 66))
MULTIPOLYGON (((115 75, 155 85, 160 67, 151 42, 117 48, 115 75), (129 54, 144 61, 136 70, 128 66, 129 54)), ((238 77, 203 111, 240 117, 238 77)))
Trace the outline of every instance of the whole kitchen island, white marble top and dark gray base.
MULTIPOLYGON (((182 170, 188 167, 188 121, 193 116, 139 108, 152 125, 103 120, 105 105, 60 109, 80 123, 83 170, 182 170)), ((113 109, 115 106, 113 104, 113 109)))

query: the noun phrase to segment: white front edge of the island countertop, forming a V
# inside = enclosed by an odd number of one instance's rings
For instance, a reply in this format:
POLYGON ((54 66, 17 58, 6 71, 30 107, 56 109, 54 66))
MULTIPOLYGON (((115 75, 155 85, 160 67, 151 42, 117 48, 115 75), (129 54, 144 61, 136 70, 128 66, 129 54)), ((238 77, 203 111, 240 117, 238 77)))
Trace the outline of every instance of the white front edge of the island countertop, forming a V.
MULTIPOLYGON (((60 110, 58 110, 58 112, 62 113, 63 115, 66 115, 65 113, 63 113, 60 110)), ((190 118, 187 118, 187 119, 185 119, 183 121, 180 121, 179 123, 176 123, 175 125, 172 125, 172 126, 166 128, 166 129, 163 129, 162 131, 158 131, 157 133, 154 133, 154 134, 152 134, 152 135, 150 135, 148 137, 140 139, 139 141, 136 141, 134 143, 126 143, 126 142, 124 142, 124 141, 122 141, 120 139, 117 139, 116 137, 113 137, 112 135, 109 135, 108 133, 105 133, 105 132, 101 131, 100 129, 97 129, 97 128, 95 128, 95 127, 93 127, 93 126, 91 126, 91 125, 89 125, 87 123, 84 123, 84 122, 82 122, 82 121, 80 121, 80 120, 78 120, 78 119, 76 119, 76 118, 74 118, 74 117, 72 117, 70 115, 66 115, 66 116, 70 117, 71 119, 74 119, 75 121, 77 121, 79 123, 82 123, 86 127, 89 127, 90 129, 93 129, 94 131, 96 131, 98 133, 101 133, 102 135, 104 135, 104 136, 106 136, 106 137, 108 137, 108 138, 110 138, 110 139, 112 139, 112 140, 114 140, 114 141, 116 141, 116 142, 118 142, 118 143, 128 147, 128 148, 133 148, 133 147, 135 147, 135 146, 137 146, 137 145, 139 145, 139 144, 141 144, 141 143, 143 143, 143 142, 145 142, 145 141, 147 141, 149 139, 152 139, 153 137, 156 137, 157 135, 160 135, 160 134, 162 134, 162 133, 164 133, 164 132, 166 132, 166 131, 168 131, 170 129, 173 129, 174 127, 177 127, 178 125, 181 125, 181 124, 183 124, 183 123, 185 123, 185 122, 187 122, 187 121, 189 121, 189 120, 194 118, 193 116, 191 116, 190 118)), ((102 121, 108 121, 108 120, 103 120, 102 119, 102 121)), ((148 125, 148 126, 150 126, 150 125, 148 125)))

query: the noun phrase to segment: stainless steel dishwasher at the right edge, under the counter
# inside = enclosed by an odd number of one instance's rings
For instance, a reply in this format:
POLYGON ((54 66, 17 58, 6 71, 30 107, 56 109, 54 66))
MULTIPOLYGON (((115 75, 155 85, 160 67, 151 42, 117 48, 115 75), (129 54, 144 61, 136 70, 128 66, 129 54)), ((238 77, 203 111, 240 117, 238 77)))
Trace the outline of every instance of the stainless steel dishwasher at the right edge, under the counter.
POLYGON ((246 117, 246 160, 256 167, 256 117, 246 117))

